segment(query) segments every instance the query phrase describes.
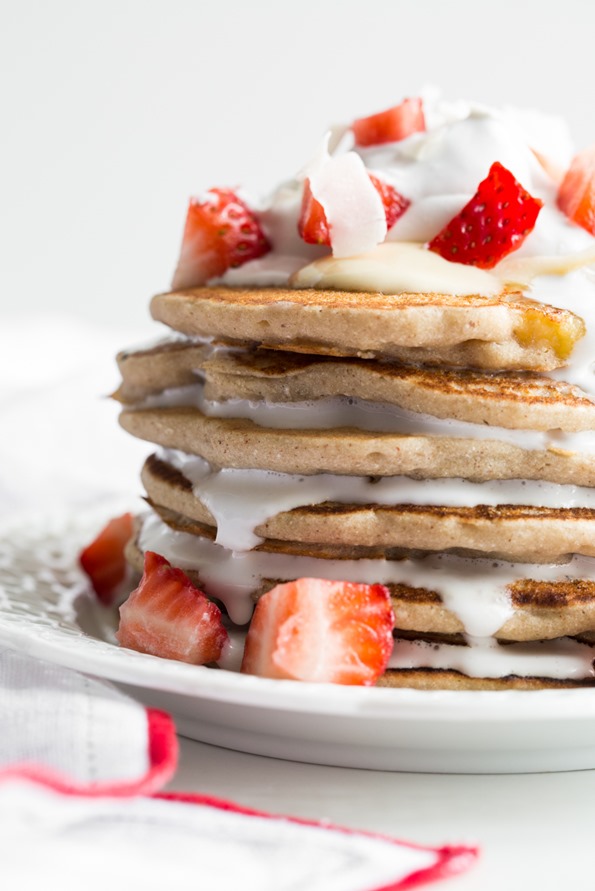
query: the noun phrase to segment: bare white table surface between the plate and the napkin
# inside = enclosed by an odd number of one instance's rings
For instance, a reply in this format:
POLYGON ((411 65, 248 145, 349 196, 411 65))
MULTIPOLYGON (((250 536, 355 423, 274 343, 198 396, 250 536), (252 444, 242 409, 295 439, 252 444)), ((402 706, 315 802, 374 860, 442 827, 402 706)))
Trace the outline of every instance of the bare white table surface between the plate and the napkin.
POLYGON ((476 843, 453 891, 591 888, 595 771, 510 776, 405 774, 262 758, 187 739, 169 790, 387 833, 420 843, 476 843))

